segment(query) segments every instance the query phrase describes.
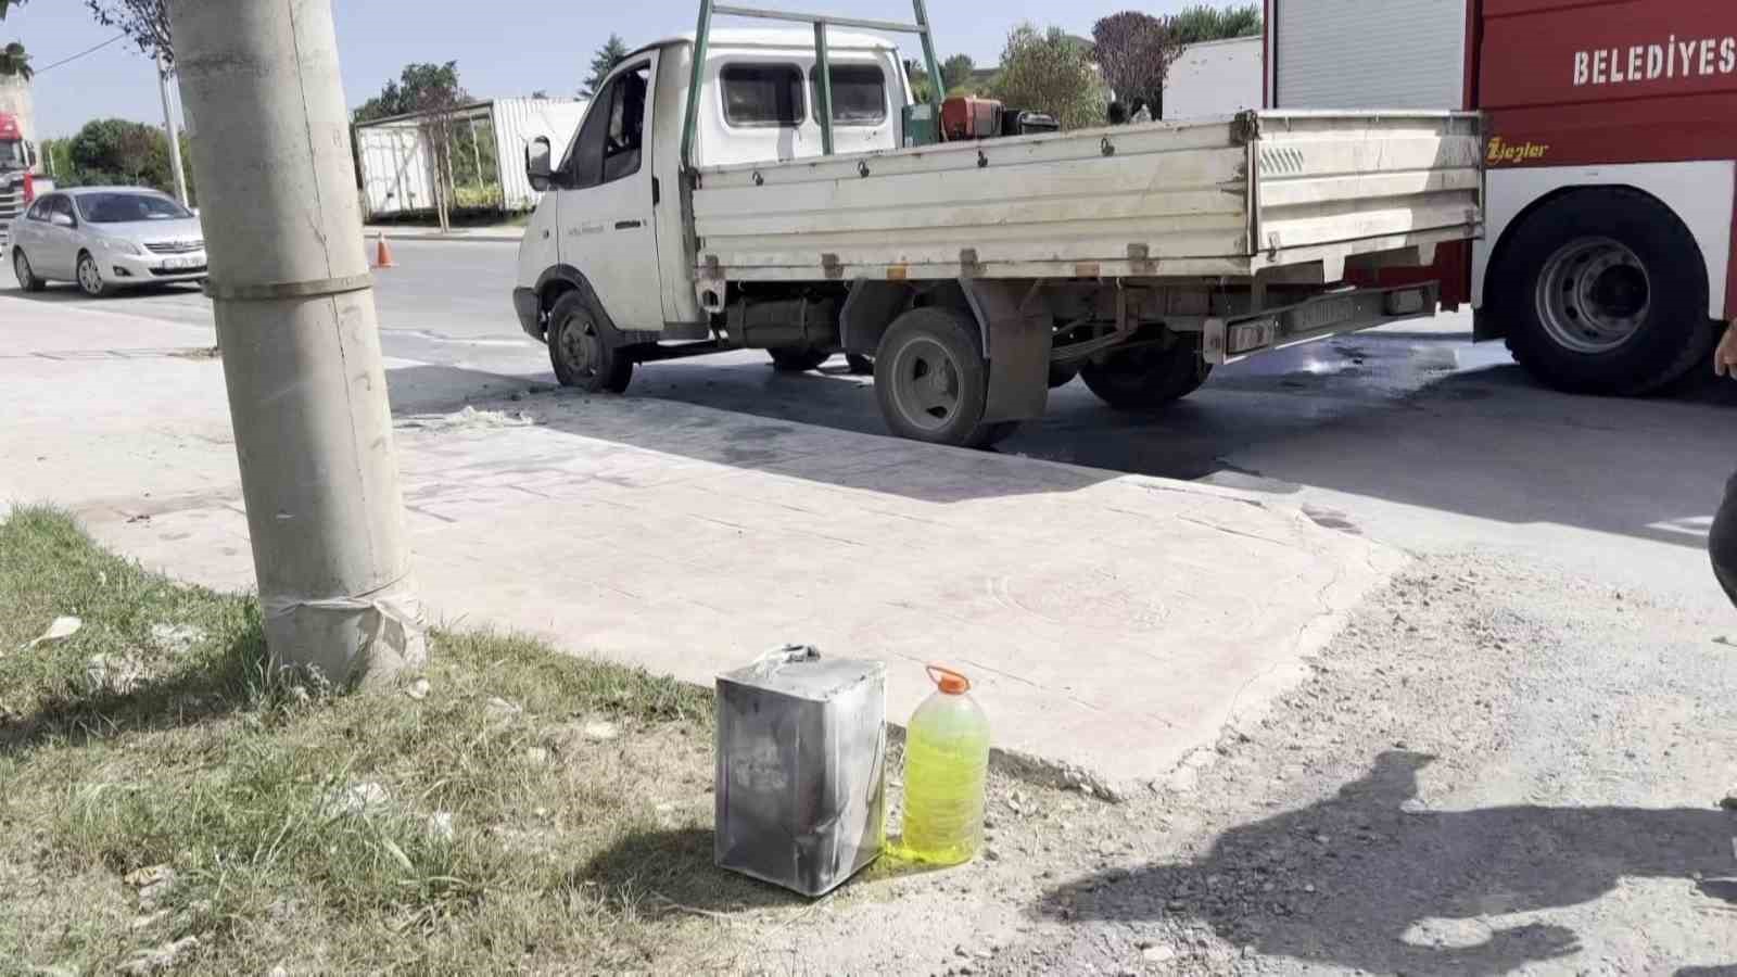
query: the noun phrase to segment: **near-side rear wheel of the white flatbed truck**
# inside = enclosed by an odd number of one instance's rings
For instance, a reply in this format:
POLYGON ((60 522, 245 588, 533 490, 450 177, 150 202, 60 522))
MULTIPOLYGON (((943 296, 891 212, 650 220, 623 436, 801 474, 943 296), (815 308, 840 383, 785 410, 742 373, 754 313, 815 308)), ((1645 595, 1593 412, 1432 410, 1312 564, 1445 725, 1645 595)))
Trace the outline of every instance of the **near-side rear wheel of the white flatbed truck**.
POLYGON ((886 426, 902 438, 985 449, 1018 424, 985 424, 988 363, 976 327, 943 308, 910 309, 881 337, 874 389, 886 426))

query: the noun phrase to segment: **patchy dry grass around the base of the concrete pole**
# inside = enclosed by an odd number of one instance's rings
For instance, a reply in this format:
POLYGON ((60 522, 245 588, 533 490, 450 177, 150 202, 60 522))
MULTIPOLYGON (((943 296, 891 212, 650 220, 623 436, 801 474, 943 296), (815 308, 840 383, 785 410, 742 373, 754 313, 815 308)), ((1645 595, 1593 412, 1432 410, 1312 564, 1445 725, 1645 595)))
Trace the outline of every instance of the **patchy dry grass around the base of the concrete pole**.
POLYGON ((0 522, 5 965, 193 937, 177 974, 664 968, 790 901, 710 866, 703 690, 488 633, 431 635, 426 687, 262 661, 252 600, 0 522))

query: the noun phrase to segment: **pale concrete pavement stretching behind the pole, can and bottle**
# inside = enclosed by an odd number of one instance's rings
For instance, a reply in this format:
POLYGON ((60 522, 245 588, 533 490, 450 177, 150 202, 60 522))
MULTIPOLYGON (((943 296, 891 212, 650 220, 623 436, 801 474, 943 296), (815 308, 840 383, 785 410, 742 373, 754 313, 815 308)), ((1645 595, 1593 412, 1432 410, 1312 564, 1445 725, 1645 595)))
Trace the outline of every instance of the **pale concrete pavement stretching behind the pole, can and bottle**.
MULTIPOLYGON (((1119 789, 1256 714, 1403 562, 1233 488, 664 400, 485 407, 396 431, 438 617, 702 683, 783 641, 879 657, 895 721, 948 662, 1002 749, 1119 789)), ((0 358, 0 499, 250 579, 221 363, 0 358)))

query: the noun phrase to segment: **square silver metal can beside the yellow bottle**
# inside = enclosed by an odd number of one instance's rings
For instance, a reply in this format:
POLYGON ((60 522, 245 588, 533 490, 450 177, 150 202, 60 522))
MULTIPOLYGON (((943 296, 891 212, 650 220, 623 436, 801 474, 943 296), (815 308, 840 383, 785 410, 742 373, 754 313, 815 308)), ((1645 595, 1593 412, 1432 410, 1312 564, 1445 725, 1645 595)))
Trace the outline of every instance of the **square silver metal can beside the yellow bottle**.
POLYGON ((785 647, 717 676, 719 867, 825 895, 886 843, 886 664, 785 647))

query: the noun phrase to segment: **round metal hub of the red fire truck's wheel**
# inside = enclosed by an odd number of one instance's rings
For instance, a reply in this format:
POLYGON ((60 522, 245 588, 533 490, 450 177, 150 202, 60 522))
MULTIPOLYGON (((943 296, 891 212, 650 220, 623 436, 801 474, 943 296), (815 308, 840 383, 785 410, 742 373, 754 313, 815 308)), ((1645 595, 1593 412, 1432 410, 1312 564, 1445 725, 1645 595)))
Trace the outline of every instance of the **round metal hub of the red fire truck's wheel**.
POLYGON ((1635 252, 1610 238, 1569 242, 1537 278, 1544 332, 1575 353, 1608 353, 1640 332, 1652 309, 1652 280, 1635 252))

